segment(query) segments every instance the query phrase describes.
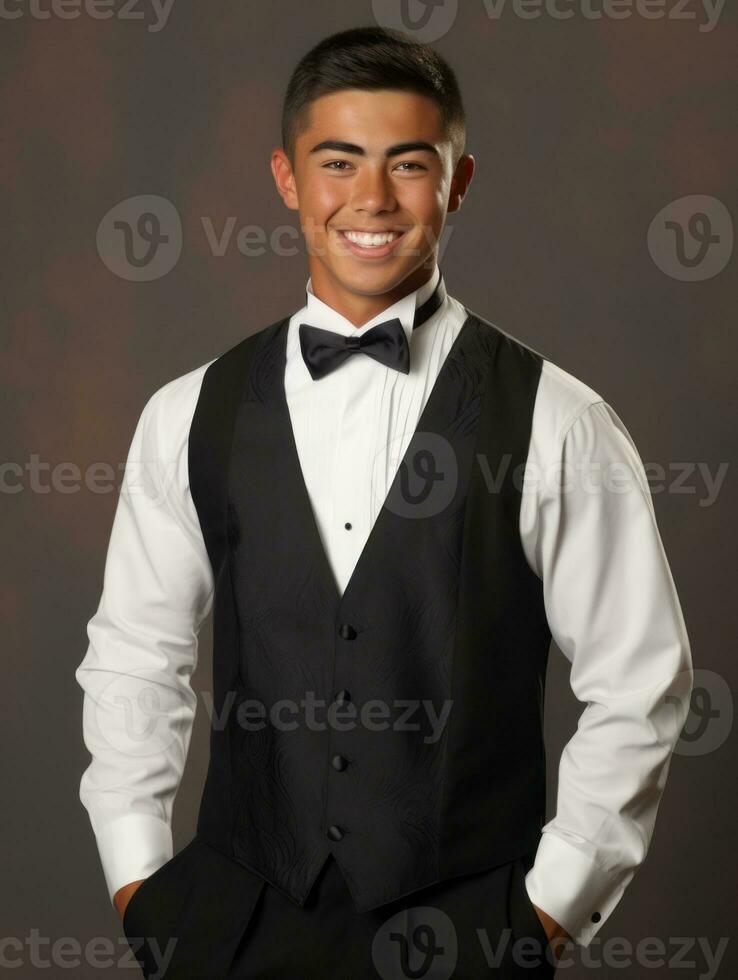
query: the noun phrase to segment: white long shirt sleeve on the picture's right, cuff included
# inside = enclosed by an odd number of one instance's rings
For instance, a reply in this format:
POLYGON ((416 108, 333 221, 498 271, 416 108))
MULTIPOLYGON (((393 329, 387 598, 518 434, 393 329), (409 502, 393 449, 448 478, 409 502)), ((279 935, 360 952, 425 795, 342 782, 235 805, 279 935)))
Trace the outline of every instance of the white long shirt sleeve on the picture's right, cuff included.
POLYGON ((646 475, 625 426, 604 401, 592 401, 554 444, 526 504, 526 541, 552 636, 585 707, 561 756, 556 815, 543 827, 526 887, 586 947, 646 857, 693 675, 646 475))

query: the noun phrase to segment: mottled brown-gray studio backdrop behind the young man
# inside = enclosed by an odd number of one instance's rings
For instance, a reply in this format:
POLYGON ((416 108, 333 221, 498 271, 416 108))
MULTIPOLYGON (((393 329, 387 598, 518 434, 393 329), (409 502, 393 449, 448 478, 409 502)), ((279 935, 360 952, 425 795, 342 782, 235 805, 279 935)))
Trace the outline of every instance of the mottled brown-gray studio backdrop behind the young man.
MULTIPOLYGON (((717 699, 721 678, 728 692, 735 686, 738 257, 703 282, 685 282, 659 268, 647 232, 662 208, 687 195, 717 198, 738 215, 738 18, 735 5, 726 8, 708 32, 699 30, 705 14, 695 2, 692 20, 591 19, 579 3, 560 7, 575 16, 528 20, 508 9, 495 19, 483 0, 468 0, 434 42, 458 72, 477 162, 441 262, 454 296, 597 390, 644 462, 702 464, 713 476, 730 464, 710 506, 698 471, 678 492, 654 493, 695 667, 714 672, 700 681, 713 700, 695 703, 687 728, 703 724, 706 704, 713 716, 690 754, 674 757, 647 861, 596 940, 655 937, 673 957, 673 937, 715 949, 735 916, 735 743, 730 695, 717 699)), ((71 463, 82 472, 107 462, 118 476, 106 493, 79 481, 75 490, 39 492, 27 473, 9 481, 17 492, 4 488, 0 934, 109 937, 123 959, 78 798, 89 757, 74 679, 102 588, 120 467, 156 388, 302 304, 301 238, 293 255, 267 247, 246 256, 234 231, 216 255, 203 218, 216 232, 229 216, 236 230, 257 225, 267 236, 298 227, 268 166, 284 86, 308 47, 373 23, 374 13, 369 3, 175 0, 155 31, 143 0, 135 8, 143 19, 41 20, 27 3, 17 9, 22 16, 0 23, 3 460, 25 467, 37 454, 52 468, 71 463), (119 201, 148 194, 175 205, 182 250, 168 274, 133 282, 106 266, 96 233, 119 201)), ((726 247, 723 235, 715 249, 726 247)), ((210 663, 208 624, 198 691, 209 690, 210 663)), ((550 815, 556 763, 582 707, 567 677, 554 650, 550 815)), ((200 697, 175 807, 176 848, 194 833, 207 737, 200 697)), ((561 974, 590 976, 574 958, 561 974)), ((683 959, 694 966, 683 962, 687 973, 678 975, 704 974, 698 945, 683 959)), ((36 975, 25 960, 15 976, 36 975)), ((729 945, 719 975, 735 968, 729 945)), ((71 974, 116 969, 86 963, 71 974)), ((666 969, 633 962, 602 966, 597 976, 666 969)))

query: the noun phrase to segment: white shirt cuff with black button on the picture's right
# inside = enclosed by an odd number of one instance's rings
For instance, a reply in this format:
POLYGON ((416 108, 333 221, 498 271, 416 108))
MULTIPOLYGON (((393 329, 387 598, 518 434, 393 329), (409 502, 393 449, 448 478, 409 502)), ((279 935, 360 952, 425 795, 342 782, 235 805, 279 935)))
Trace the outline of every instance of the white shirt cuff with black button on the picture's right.
POLYGON ((633 877, 604 871, 579 848, 553 833, 544 833, 533 867, 525 876, 528 895, 587 947, 605 924, 633 877))

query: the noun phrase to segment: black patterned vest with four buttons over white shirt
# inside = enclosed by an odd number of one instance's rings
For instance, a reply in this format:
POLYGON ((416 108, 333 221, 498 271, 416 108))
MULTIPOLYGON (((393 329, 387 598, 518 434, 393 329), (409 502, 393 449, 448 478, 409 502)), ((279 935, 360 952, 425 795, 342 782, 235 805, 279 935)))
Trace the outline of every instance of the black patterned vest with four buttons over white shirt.
POLYGON ((331 853, 363 912, 511 861, 544 823, 551 635, 519 531, 543 358, 466 313, 343 596, 290 422, 289 317, 203 378, 189 476, 215 577, 214 715, 197 835, 300 905, 331 853))

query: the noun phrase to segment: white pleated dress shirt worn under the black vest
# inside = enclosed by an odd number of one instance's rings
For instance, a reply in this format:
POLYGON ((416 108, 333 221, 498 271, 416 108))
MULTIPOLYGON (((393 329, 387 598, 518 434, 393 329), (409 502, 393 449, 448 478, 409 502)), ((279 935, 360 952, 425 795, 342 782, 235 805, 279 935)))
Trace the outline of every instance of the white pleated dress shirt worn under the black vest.
MULTIPOLYGON (((466 313, 450 295, 413 331, 439 277, 356 328, 312 292, 290 319, 285 392, 300 464, 341 593, 466 313), (307 321, 343 335, 398 317, 405 375, 357 354, 313 381, 307 321), (350 524, 350 528, 346 527, 350 524)), ((80 784, 110 897, 172 856, 189 748, 190 677, 213 575, 189 491, 189 428, 208 361, 149 398, 128 453, 89 647, 76 678, 92 761, 80 784), (153 699, 153 700, 152 700, 153 699), (152 723, 153 722, 153 727, 152 723)), ((638 451, 613 409, 544 358, 520 539, 584 705, 556 815, 526 877, 533 902, 588 946, 645 859, 692 686, 689 641, 638 451), (562 480, 563 474, 563 480, 562 480), (592 921, 594 916, 595 921, 592 921)))

